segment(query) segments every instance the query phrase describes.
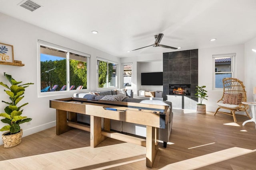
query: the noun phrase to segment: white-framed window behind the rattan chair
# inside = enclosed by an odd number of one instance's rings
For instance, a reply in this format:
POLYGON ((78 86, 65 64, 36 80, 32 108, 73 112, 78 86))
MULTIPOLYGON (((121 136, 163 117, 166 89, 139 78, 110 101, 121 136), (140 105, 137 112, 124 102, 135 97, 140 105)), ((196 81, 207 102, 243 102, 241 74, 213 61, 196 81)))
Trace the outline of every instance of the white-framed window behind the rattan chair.
POLYGON ((235 56, 236 53, 212 55, 214 61, 214 89, 223 88, 223 78, 234 77, 235 56))

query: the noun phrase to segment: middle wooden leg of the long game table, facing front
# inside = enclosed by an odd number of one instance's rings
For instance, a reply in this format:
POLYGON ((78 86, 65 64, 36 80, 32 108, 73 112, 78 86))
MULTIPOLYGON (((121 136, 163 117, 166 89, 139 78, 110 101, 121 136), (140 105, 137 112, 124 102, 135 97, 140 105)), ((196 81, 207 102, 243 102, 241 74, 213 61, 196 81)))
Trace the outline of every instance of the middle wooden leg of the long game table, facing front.
POLYGON ((91 115, 90 118, 90 145, 95 148, 101 143, 101 117, 91 115))

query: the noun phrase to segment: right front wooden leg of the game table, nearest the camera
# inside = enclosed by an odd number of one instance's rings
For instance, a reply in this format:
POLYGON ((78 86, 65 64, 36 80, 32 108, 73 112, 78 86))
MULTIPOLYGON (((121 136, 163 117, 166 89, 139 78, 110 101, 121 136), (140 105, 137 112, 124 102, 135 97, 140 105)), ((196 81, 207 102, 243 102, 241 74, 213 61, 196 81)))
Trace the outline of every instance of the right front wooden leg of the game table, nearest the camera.
POLYGON ((147 126, 146 129, 146 166, 152 168, 158 150, 158 129, 151 126, 147 126))

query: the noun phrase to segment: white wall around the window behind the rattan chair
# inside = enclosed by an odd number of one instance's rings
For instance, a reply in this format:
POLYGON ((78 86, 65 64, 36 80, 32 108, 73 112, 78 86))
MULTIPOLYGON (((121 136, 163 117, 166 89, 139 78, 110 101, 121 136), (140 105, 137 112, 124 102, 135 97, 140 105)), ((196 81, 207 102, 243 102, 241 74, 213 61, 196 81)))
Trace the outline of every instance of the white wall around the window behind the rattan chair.
POLYGON ((213 90, 213 59, 212 55, 236 53, 235 59, 235 78, 244 81, 244 45, 230 45, 223 47, 198 49, 198 85, 206 86, 208 100, 204 100, 207 111, 215 111, 216 102, 222 97, 223 91, 213 90))

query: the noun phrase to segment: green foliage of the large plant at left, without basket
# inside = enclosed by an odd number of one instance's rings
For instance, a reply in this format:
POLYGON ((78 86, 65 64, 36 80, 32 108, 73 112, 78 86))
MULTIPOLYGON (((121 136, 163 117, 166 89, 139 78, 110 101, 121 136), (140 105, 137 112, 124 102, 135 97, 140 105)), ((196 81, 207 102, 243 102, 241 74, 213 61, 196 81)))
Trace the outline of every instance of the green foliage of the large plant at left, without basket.
POLYGON ((21 107, 26 106, 28 103, 22 104, 21 106, 16 106, 20 100, 24 98, 24 91, 25 88, 27 88, 30 84, 34 83, 26 83, 22 85, 18 85, 22 82, 17 82, 12 78, 11 75, 5 74, 4 76, 7 78, 7 80, 10 82, 11 86, 9 87, 8 85, 4 84, 3 82, 0 82, 2 86, 7 88, 8 90, 4 90, 6 94, 9 96, 10 102, 4 102, 5 104, 8 104, 4 108, 5 113, 0 113, 0 116, 4 117, 4 119, 1 119, 3 123, 7 123, 8 125, 2 127, 0 131, 10 131, 10 135, 14 133, 18 133, 20 131, 20 124, 29 122, 32 119, 27 118, 26 116, 21 116, 22 111, 20 110, 21 107))

